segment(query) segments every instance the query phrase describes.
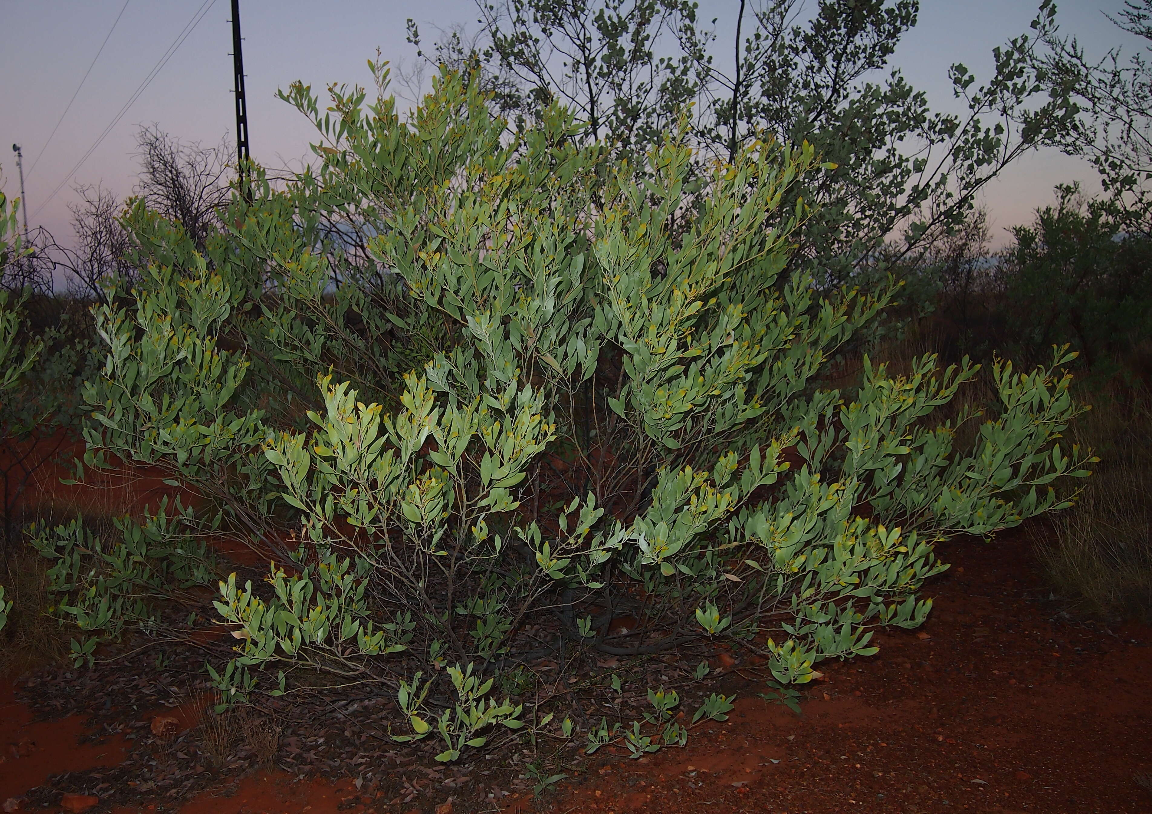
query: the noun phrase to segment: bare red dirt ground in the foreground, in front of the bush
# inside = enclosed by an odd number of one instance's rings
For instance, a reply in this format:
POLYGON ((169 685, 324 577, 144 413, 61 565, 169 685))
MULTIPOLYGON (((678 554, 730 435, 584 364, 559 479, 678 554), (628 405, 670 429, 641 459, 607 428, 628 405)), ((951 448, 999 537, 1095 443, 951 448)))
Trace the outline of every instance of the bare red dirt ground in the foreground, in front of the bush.
MULTIPOLYGON (((1040 598, 1021 536, 941 553, 954 567, 930 586, 937 601, 924 628, 882 634, 872 658, 826 664, 803 716, 757 698, 759 685, 737 666, 725 679, 740 694, 736 710, 688 748, 638 761, 601 751, 563 768, 573 777, 541 800, 508 794, 501 804, 617 814, 1152 811, 1142 785, 1152 778, 1152 631, 1109 631, 1060 613, 1040 598)), ((78 745, 75 717, 32 723, 12 681, 0 689, 0 799, 50 774, 113 764, 124 749, 116 739, 78 745)), ((290 783, 282 772, 250 775, 228 792, 181 811, 402 814, 450 799, 430 787, 394 808, 359 798, 349 779, 290 783)))

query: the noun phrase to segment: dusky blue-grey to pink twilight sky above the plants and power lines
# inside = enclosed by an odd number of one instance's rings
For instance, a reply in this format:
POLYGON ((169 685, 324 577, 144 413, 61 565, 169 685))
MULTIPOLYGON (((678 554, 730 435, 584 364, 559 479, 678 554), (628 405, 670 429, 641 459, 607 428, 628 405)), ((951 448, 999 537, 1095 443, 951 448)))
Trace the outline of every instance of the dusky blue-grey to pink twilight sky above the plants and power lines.
MULTIPOLYGON (((992 70, 991 51, 1028 30, 1039 0, 923 0, 919 23, 894 56, 911 84, 934 108, 949 110, 947 69, 963 62, 978 82, 992 70)), ((1058 0, 1061 29, 1075 33, 1091 54, 1140 40, 1115 28, 1123 0, 1058 0)), ((810 7, 814 1, 809 0, 810 7)), ((738 0, 700 0, 700 16, 719 17, 721 37, 735 24, 738 0)), ((71 240, 67 204, 75 184, 103 183, 118 196, 131 193, 134 135, 157 123, 182 141, 215 144, 233 135, 229 0, 0 0, 0 184, 20 194, 12 144, 24 153, 31 226, 43 225, 61 242, 71 240), (121 15, 121 9, 123 9, 121 15), (75 168, 115 119, 185 27, 203 18, 154 75, 100 145, 75 168), (120 16, 113 30, 113 22, 120 16), (112 30, 99 59, 101 43, 112 30), (89 66, 91 73, 56 127, 89 66), (60 191, 51 197, 58 186, 60 191)), ((365 60, 377 47, 385 59, 410 65, 404 21, 415 18, 425 40, 435 28, 463 23, 475 31, 472 0, 242 0, 249 133, 252 157, 266 166, 298 166, 314 141, 309 122, 274 98, 278 88, 303 80, 323 91, 329 82, 369 84, 365 60)), ((727 35, 730 39, 730 33, 727 35)), ((1026 156, 983 195, 993 240, 1028 221, 1053 201, 1052 187, 1081 180, 1098 189, 1086 165, 1054 152, 1026 156)))

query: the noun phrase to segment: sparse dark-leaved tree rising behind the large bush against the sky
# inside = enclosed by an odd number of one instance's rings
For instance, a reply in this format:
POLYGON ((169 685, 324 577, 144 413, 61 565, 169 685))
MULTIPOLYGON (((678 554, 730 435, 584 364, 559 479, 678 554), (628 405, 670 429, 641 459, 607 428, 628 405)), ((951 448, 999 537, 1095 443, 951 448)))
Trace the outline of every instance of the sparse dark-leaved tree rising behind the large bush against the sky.
MULTIPOLYGON (((882 281, 892 264, 960 226, 986 183, 1061 137, 1076 113, 1069 89, 1045 82, 1034 65, 1038 43, 1055 30, 1052 0, 1039 3, 1032 30, 993 51, 983 84, 950 66, 960 113, 933 111, 893 66, 918 0, 732 3, 733 39, 717 37, 713 8, 690 0, 477 6, 487 36, 479 55, 520 85, 526 115, 562 100, 596 137, 635 158, 689 105, 704 154, 733 160, 768 136, 813 144, 836 167, 790 190, 816 204, 793 259, 827 288, 882 281)), ((511 96, 501 96, 506 107, 511 96)))

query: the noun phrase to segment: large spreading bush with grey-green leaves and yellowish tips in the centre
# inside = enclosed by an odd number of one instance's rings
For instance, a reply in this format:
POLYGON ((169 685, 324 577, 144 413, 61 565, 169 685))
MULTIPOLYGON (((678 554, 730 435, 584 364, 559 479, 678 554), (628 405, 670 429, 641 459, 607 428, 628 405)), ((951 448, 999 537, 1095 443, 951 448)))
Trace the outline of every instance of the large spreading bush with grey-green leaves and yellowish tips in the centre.
MULTIPOLYGON (((723 641, 810 681, 924 621, 937 542, 1068 505, 1054 481, 1092 459, 1059 443, 1081 410, 1066 354, 993 364, 972 449, 953 438, 979 413, 932 419, 967 360, 821 386, 897 287, 821 295, 786 271, 810 212, 782 202, 826 171, 811 146, 755 142, 699 180, 682 128, 641 173, 559 107, 510 131, 447 70, 401 116, 373 69, 372 104, 283 93, 316 121, 316 167, 257 174, 203 250, 127 216, 146 267, 96 311, 81 468, 157 467, 173 495, 116 538, 39 530, 77 660, 225 624, 226 701, 293 692, 298 669, 376 683, 394 737, 453 760, 500 725, 573 733, 525 684, 545 657, 723 641), (272 559, 263 585, 213 557, 221 535, 272 559)), ((683 744, 676 693, 649 699, 589 749, 683 744)))

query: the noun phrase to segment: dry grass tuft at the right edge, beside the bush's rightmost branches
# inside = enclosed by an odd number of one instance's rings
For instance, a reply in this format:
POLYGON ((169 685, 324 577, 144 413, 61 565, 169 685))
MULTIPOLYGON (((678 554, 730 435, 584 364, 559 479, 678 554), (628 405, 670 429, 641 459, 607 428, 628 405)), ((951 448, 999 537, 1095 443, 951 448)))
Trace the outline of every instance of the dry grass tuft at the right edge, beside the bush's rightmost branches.
POLYGON ((1037 557, 1077 613, 1152 620, 1152 393, 1094 394, 1069 435, 1100 462, 1078 504, 1033 529, 1037 557))

